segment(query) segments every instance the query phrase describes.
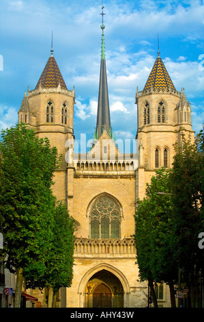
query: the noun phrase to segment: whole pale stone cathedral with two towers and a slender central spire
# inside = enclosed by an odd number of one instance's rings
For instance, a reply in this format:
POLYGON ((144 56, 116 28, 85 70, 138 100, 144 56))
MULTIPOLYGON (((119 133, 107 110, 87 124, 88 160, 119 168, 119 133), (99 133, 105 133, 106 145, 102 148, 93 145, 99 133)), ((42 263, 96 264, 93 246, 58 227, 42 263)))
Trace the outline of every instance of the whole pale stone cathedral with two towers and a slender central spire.
MULTIPOLYGON (((178 92, 160 53, 144 88, 136 89, 135 129, 138 153, 119 151, 113 138, 102 20, 102 49, 98 114, 91 149, 74 153, 74 99, 51 50, 33 90, 25 92, 18 121, 39 138, 47 137, 63 154, 55 172, 53 191, 67 203, 77 224, 74 278, 61 288, 57 306, 68 308, 143 308, 147 283, 139 282, 134 248, 136 200, 145 196, 146 183, 160 167, 171 167, 176 141, 192 137, 190 103, 178 92)), ((171 306, 169 286, 157 286, 158 304, 171 306)), ((46 307, 46 290, 31 290, 46 307)))

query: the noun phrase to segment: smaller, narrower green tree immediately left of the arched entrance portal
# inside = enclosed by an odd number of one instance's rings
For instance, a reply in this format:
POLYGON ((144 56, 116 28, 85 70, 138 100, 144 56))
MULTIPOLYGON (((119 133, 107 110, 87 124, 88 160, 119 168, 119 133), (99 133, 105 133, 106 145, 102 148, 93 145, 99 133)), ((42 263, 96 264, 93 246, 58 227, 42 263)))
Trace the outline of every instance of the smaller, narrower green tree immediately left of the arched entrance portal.
POLYGON ((33 276, 27 279, 28 288, 48 289, 48 308, 55 307, 55 295, 59 288, 71 286, 74 264, 75 221, 61 201, 56 201, 53 214, 50 247, 44 256, 46 269, 38 280, 33 276))

